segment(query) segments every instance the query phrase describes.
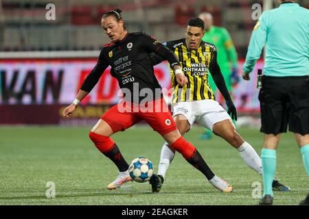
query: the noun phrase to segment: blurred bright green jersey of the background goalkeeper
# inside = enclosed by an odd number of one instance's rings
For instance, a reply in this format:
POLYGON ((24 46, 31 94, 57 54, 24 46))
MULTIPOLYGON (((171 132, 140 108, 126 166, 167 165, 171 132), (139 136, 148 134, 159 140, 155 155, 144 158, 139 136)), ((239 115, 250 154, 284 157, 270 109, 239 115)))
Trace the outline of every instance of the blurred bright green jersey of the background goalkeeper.
MULTIPOLYGON (((209 31, 205 32, 203 41, 210 42, 216 46, 218 64, 225 78, 227 88, 231 90, 231 68, 237 68, 238 57, 229 32, 224 27, 212 26, 209 31)), ((211 77, 211 75, 209 75, 209 77, 211 77)), ((209 83, 211 88, 216 90, 216 85, 212 78, 209 79, 209 83)))

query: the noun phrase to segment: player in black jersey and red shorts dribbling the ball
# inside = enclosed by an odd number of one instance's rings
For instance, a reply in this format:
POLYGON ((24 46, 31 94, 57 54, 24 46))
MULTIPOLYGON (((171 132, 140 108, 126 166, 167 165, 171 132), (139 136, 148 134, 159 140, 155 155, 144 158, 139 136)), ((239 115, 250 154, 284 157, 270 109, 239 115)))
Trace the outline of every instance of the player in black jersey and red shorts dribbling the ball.
POLYGON ((158 40, 141 32, 128 33, 120 12, 121 10, 113 10, 103 14, 102 27, 112 42, 104 46, 98 63, 84 80, 76 99, 63 111, 63 115, 69 117, 76 110, 79 101, 98 83, 104 70, 111 66, 112 76, 122 88, 124 99, 111 107, 89 133, 95 146, 119 169, 117 179, 107 188, 113 190, 132 180, 128 174, 128 163, 110 136, 146 120, 172 149, 181 153, 187 162, 203 172, 212 185, 222 192, 231 192, 233 187, 214 175, 196 148, 181 137, 168 105, 162 99, 161 86, 155 77, 149 54, 157 53, 168 60, 177 83, 184 86, 187 78, 183 75, 179 60, 158 40), (156 95, 158 90, 159 95, 156 95), (148 98, 145 98, 145 94, 148 98))

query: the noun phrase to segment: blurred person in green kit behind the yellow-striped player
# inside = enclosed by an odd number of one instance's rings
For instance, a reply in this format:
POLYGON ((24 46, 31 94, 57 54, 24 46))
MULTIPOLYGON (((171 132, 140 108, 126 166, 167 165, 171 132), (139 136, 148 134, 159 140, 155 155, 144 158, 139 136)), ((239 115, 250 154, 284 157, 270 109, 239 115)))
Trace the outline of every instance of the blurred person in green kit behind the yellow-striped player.
MULTIPOLYGON (((213 25, 213 17, 208 12, 203 12, 198 16, 205 23, 205 35, 203 41, 214 44, 217 49, 217 62, 220 66, 221 73, 225 79, 227 90, 232 94, 233 86, 239 81, 238 77, 238 57, 234 44, 229 36, 229 32, 224 27, 216 27, 213 25)), ((208 82, 211 90, 214 92, 218 102, 223 105, 224 100, 221 98, 220 93, 216 93, 216 83, 211 75, 208 77, 208 82)), ((234 123, 235 124, 235 123, 234 123)), ((212 132, 205 129, 205 133, 201 135, 201 139, 209 139, 212 132)))

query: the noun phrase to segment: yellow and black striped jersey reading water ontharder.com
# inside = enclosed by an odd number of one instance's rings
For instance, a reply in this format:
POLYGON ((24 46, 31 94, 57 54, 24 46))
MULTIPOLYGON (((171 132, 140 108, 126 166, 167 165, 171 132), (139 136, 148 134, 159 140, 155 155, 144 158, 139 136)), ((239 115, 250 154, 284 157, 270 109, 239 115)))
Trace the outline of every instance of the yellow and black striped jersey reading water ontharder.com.
POLYGON ((187 47, 185 38, 183 38, 165 42, 164 45, 178 57, 183 73, 188 79, 187 85, 179 86, 176 82, 174 70, 170 68, 172 88, 174 88, 173 103, 215 99, 208 83, 208 69, 216 53, 214 44, 202 41, 198 49, 191 50, 187 47))

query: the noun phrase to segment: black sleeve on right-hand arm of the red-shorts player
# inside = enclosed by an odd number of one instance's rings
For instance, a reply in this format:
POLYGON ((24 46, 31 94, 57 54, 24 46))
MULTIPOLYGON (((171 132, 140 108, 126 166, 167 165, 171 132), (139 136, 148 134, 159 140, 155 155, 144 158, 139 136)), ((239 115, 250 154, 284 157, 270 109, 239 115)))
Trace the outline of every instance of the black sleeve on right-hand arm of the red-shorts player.
MULTIPOLYGON (((155 57, 154 63, 157 63, 161 60, 161 62, 163 60, 168 60, 168 62, 170 63, 170 66, 173 67, 175 65, 179 65, 179 60, 176 57, 176 55, 170 51, 170 49, 166 48, 163 46, 163 44, 161 42, 159 42, 158 40, 156 40, 155 38, 152 38, 146 34, 143 34, 143 45, 144 48, 146 49, 146 51, 149 51, 150 53, 155 53, 159 56, 155 57)), ((158 64, 158 63, 157 63, 158 64)))

